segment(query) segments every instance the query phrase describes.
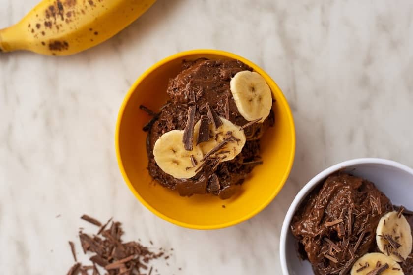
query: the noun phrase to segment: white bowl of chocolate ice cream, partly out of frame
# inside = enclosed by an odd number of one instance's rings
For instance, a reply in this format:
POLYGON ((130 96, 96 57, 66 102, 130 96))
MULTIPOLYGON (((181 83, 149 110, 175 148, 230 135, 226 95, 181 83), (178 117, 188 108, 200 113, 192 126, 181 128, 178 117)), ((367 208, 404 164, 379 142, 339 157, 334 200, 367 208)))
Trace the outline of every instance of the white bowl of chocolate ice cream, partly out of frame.
POLYGON ((303 199, 324 179, 344 171, 373 182, 393 204, 413 209, 413 169, 397 162, 383 159, 354 159, 333 165, 312 178, 295 196, 285 216, 280 237, 280 260, 284 275, 314 275, 310 262, 303 261, 296 251, 296 240, 290 231, 290 222, 303 199))

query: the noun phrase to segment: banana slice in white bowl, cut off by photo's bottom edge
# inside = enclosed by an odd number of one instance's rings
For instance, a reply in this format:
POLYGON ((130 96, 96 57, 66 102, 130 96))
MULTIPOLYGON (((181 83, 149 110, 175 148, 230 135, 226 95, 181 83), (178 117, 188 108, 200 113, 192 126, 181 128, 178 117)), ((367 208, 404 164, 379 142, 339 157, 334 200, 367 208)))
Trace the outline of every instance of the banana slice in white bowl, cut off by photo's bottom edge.
POLYGON ((354 263, 350 275, 366 275, 375 269, 383 270, 381 273, 377 273, 380 275, 404 275, 400 265, 382 253, 367 253, 362 256, 354 263))

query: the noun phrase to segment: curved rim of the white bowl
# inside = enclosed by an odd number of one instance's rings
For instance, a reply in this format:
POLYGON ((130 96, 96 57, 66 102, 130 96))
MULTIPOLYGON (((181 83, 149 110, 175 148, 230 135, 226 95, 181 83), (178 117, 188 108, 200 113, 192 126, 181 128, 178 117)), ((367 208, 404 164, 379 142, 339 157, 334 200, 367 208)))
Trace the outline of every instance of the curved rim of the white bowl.
POLYGON ((347 166, 353 166, 353 165, 362 165, 362 164, 381 164, 381 165, 387 165, 391 167, 396 167, 401 170, 404 170, 410 174, 413 175, 413 169, 410 168, 407 165, 403 165, 401 163, 387 160, 387 159, 381 159, 381 158, 359 158, 359 159, 351 159, 347 160, 335 165, 332 165, 320 173, 318 173, 316 176, 314 176, 309 182, 307 182, 301 190, 295 195, 295 198, 293 202, 290 204, 290 207, 287 210, 287 213, 285 215, 283 225, 281 228, 281 234, 280 234, 280 262, 281 262, 281 271, 282 274, 284 275, 290 275, 288 269, 287 269, 287 258, 286 258, 286 241, 287 241, 287 235, 290 230, 290 222, 291 219, 293 218, 293 215, 301 203, 301 200, 308 195, 309 192, 313 190, 313 188, 320 183, 321 180, 323 180, 325 177, 330 175, 331 173, 334 173, 338 170, 341 170, 347 166))

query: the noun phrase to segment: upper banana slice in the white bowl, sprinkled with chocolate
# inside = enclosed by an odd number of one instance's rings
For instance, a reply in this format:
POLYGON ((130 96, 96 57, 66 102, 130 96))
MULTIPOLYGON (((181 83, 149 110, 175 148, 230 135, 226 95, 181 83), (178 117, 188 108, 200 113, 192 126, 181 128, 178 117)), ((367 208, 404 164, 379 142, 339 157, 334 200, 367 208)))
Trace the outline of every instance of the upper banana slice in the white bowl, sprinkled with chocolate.
POLYGON ((403 215, 393 211, 386 213, 376 229, 376 243, 383 254, 397 262, 406 260, 412 252, 412 233, 409 222, 403 215))

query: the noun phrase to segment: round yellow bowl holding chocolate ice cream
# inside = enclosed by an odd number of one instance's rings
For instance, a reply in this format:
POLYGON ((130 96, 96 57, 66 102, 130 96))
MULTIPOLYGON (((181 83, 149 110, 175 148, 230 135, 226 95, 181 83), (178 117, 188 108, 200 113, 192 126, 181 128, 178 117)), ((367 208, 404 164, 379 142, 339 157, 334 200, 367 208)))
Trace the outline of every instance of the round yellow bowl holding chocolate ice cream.
POLYGON ((194 229, 218 229, 248 220, 278 194, 290 173, 295 154, 295 129, 291 110, 277 84, 254 63, 217 50, 193 50, 169 56, 150 67, 130 88, 119 110, 115 134, 120 171, 133 194, 158 217, 194 229), (276 99, 275 126, 261 139, 264 164, 254 168, 241 192, 228 200, 212 195, 181 197, 157 184, 147 170, 147 133, 142 127, 150 117, 139 109, 159 110, 167 100, 168 80, 177 76, 182 60, 200 57, 238 59, 261 74, 276 99), (225 206, 225 208, 224 208, 225 206))

